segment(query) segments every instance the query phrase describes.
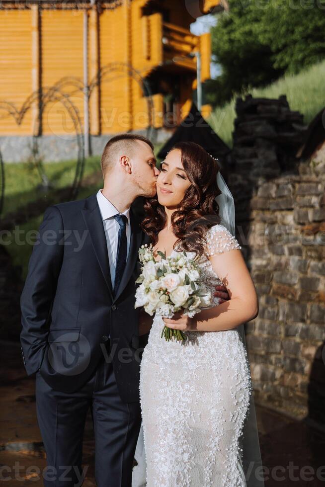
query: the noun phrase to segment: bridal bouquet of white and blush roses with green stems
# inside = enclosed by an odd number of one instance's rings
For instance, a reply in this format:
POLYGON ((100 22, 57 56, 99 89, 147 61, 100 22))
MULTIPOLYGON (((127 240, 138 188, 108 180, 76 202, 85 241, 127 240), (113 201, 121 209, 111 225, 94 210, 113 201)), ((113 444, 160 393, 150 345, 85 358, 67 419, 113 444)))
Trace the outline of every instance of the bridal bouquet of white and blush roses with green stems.
MULTIPOLYGON (((139 249, 142 272, 136 280, 140 286, 136 291, 135 308, 143 306, 149 315, 156 313, 166 318, 182 310, 183 315, 192 318, 211 304, 211 293, 202 284, 201 269, 193 258, 186 252, 168 257, 160 251, 158 254, 161 260, 156 261, 152 244, 139 249)), ((166 340, 185 339, 181 330, 168 326, 163 327, 163 336, 166 340)))

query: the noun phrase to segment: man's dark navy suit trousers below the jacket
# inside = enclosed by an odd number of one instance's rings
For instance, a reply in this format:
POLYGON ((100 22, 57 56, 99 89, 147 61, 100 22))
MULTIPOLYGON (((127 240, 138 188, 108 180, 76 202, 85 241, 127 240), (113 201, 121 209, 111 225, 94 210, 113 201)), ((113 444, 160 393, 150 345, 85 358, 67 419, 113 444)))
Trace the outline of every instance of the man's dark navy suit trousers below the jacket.
MULTIPOLYGON (((98 487, 131 487, 141 425, 140 403, 121 401, 111 362, 102 356, 92 377, 74 393, 52 389, 36 373, 36 410, 46 456, 46 487, 80 487, 82 437, 88 408, 95 437, 98 487)), ((83 467, 85 469, 85 466, 83 467)))

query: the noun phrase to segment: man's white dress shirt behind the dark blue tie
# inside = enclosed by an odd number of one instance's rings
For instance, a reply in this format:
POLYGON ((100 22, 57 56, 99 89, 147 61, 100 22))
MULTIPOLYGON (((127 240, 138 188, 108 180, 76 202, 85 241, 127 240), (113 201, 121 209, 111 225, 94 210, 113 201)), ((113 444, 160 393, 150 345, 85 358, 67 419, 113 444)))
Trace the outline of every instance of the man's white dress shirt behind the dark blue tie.
MULTIPOLYGON (((103 226, 106 236, 108 260, 112 281, 112 288, 114 289, 115 282, 115 269, 116 269, 116 257, 117 257, 117 245, 118 245, 118 231, 120 229, 119 224, 114 218, 114 215, 119 215, 120 212, 115 208, 113 203, 111 203, 102 193, 102 189, 98 190, 97 201, 100 210, 101 217, 103 219, 103 226)), ((130 207, 127 208, 121 215, 125 215, 128 219, 126 226, 126 239, 127 239, 127 256, 129 255, 130 248, 130 236, 131 236, 131 225, 130 225, 130 207)))

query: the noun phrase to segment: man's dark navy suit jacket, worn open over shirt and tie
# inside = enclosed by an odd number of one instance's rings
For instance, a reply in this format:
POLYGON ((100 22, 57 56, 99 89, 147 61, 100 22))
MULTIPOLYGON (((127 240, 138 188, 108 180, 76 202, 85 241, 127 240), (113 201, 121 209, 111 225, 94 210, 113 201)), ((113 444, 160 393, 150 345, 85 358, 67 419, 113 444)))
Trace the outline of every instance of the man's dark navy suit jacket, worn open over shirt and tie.
POLYGON ((148 335, 139 339, 135 280, 138 249, 148 238, 132 206, 130 224, 130 250, 114 297, 96 194, 46 209, 20 298, 28 375, 39 371, 53 389, 75 392, 104 354, 112 361, 122 401, 139 401, 141 352, 148 335))

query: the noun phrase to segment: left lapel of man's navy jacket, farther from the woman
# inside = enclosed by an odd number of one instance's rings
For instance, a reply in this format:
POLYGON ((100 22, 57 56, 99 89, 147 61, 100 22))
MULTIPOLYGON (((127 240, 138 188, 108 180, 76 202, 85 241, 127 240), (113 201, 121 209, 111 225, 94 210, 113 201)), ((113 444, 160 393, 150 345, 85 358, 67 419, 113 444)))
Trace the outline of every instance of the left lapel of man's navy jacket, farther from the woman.
POLYGON ((111 299, 113 301, 113 289, 109 268, 106 236, 101 218, 97 196, 92 194, 85 200, 84 208, 81 210, 83 219, 89 232, 94 252, 96 254, 101 272, 107 284, 111 299))

